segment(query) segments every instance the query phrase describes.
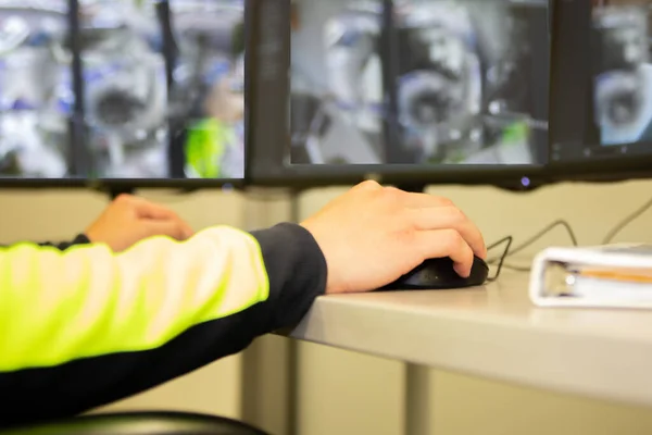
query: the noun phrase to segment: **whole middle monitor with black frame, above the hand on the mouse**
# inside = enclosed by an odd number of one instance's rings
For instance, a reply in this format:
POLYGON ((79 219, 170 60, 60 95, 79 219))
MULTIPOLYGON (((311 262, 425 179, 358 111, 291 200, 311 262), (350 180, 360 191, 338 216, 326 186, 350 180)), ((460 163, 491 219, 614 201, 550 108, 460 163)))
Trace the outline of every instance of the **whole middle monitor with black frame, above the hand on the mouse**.
POLYGON ((268 0, 254 14, 250 183, 542 177, 548 0, 268 0))

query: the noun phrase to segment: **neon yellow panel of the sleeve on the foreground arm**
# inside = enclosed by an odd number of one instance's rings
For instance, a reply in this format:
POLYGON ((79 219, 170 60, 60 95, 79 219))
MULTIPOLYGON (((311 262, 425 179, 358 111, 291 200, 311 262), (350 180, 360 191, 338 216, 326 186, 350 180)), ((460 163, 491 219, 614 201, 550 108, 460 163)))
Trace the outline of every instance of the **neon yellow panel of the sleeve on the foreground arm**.
POLYGON ((258 241, 226 226, 118 254, 102 245, 0 249, 0 371, 153 349, 268 293, 258 241))

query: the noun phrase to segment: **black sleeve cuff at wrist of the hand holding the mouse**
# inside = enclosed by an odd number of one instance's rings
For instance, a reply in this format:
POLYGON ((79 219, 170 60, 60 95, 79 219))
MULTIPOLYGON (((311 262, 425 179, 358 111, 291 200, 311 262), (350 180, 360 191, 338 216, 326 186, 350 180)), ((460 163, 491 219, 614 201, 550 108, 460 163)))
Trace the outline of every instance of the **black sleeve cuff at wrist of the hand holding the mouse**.
POLYGON ((262 333, 297 325, 317 296, 326 291, 322 249, 301 225, 283 223, 251 233, 263 252, 269 279, 269 318, 262 333))

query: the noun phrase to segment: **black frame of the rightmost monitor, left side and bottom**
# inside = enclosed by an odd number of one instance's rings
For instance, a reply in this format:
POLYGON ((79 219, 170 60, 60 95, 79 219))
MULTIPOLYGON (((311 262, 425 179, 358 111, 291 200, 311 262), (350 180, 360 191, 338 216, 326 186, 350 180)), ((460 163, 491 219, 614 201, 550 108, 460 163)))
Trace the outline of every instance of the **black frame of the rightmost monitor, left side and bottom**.
MULTIPOLYGON (((551 5, 550 161, 547 167, 551 181, 610 182, 652 176, 652 152, 631 152, 632 144, 603 147, 598 142, 590 79, 593 63, 591 2, 551 0, 551 5), (585 152, 590 153, 590 158, 585 152)), ((652 142, 645 146, 652 148, 652 142)))

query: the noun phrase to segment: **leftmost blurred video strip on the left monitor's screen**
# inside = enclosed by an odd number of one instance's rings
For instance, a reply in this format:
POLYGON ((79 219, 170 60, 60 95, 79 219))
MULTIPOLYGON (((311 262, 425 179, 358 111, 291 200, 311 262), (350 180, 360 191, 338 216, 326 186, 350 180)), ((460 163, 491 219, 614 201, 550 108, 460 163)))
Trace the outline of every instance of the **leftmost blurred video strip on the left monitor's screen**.
POLYGON ((66 0, 0 0, 0 176, 72 174, 66 0))

